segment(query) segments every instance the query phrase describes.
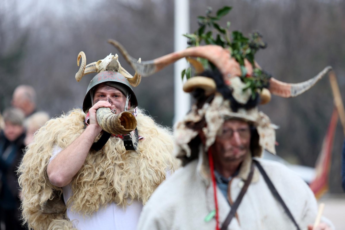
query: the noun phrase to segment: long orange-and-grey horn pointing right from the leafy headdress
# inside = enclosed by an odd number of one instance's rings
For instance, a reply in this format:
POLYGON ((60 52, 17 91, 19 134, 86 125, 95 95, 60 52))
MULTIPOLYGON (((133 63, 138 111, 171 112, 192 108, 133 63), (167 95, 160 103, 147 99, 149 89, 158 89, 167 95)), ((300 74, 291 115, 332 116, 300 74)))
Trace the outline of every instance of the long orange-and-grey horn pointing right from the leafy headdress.
POLYGON ((308 89, 312 88, 316 82, 323 78, 329 71, 332 70, 332 67, 327 66, 321 72, 319 72, 315 77, 300 83, 285 83, 278 81, 277 79, 271 78, 269 81, 269 91, 279 97, 289 98, 296 97, 299 94, 304 93, 308 89))

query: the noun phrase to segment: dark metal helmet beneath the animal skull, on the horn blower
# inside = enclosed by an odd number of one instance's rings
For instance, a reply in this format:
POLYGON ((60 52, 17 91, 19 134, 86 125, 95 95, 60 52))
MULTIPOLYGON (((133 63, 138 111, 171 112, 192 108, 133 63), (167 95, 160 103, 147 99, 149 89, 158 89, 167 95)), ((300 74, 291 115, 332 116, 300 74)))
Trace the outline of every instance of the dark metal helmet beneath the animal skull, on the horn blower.
POLYGON ((136 107, 138 105, 137 98, 132 90, 132 87, 130 83, 128 82, 127 78, 125 78, 122 74, 116 71, 102 71, 98 73, 95 77, 92 78, 90 81, 90 84, 87 88, 86 95, 83 101, 83 111, 87 112, 92 107, 92 90, 95 89, 96 86, 98 86, 101 83, 105 82, 114 82, 118 84, 118 87, 115 87, 119 89, 124 95, 126 96, 126 93, 124 91, 127 91, 130 95, 130 101, 131 106, 136 107))

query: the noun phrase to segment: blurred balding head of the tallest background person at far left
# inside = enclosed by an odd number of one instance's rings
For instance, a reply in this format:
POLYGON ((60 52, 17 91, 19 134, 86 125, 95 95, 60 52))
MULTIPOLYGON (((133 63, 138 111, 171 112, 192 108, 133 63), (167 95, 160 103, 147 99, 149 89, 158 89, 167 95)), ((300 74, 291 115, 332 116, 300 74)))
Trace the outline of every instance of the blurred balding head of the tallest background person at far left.
POLYGON ((12 94, 12 106, 21 109, 25 117, 36 112, 36 91, 32 86, 19 85, 12 94))

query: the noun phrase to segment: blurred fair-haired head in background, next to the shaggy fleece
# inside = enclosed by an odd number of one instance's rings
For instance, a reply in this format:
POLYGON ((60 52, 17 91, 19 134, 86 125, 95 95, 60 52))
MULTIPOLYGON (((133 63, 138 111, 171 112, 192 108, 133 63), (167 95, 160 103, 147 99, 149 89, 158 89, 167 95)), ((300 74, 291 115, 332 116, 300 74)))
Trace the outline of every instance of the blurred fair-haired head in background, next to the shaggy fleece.
POLYGON ((49 120, 49 114, 43 111, 32 114, 25 120, 26 135, 24 144, 28 146, 33 141, 33 134, 49 120))

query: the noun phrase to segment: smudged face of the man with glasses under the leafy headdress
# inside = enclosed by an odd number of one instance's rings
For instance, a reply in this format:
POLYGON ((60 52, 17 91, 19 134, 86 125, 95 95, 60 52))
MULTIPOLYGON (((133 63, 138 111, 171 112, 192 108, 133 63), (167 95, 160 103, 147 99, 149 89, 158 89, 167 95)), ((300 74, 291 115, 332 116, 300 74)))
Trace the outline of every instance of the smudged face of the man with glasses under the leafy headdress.
POLYGON ((226 120, 211 150, 215 161, 242 162, 250 151, 249 124, 241 120, 226 120))

